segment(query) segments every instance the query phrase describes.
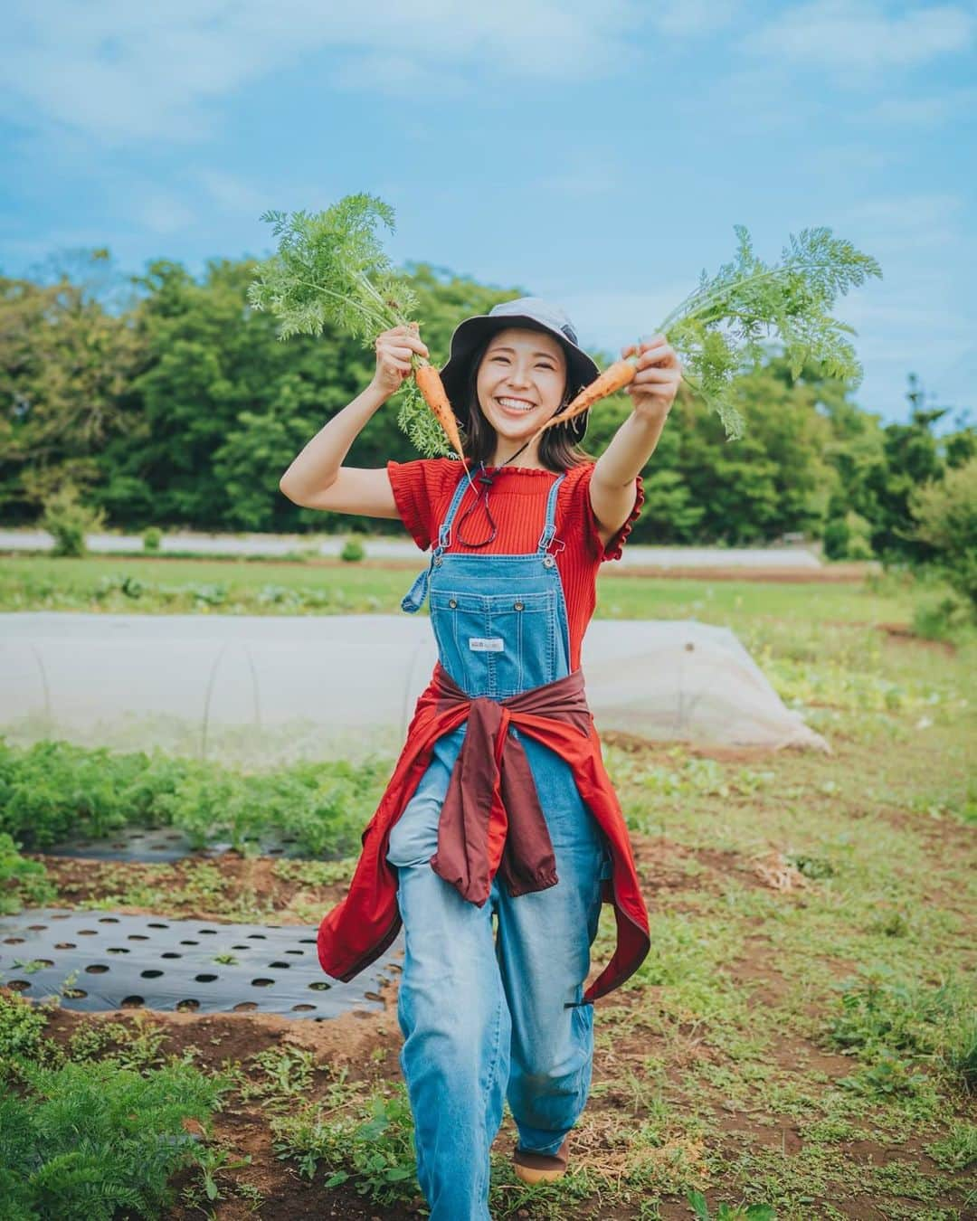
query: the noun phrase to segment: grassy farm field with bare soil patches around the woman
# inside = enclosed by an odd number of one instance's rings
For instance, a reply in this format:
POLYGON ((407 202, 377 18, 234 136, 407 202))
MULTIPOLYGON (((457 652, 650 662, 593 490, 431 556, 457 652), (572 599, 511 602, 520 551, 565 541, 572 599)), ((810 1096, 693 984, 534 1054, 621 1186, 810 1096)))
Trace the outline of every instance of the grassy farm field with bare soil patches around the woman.
MULTIPOLYGON (((393 613, 407 584, 363 565, 7 558, 0 609, 393 613)), ((733 628, 833 752, 606 739, 652 947, 596 1005, 572 1172, 518 1183, 507 1115, 493 1216, 689 1217, 690 1190, 713 1217, 723 1204, 783 1219, 977 1215, 977 645, 913 636, 920 597, 893 578, 812 589, 602 575, 598 615, 733 628)), ((48 906, 296 926, 342 896, 353 864, 23 855, 46 869, 48 906)), ((606 908, 595 974, 612 939, 606 908)), ((0 1070, 26 1049, 144 1076, 182 1062, 221 1081, 211 1120, 187 1107, 203 1139, 159 1216, 424 1215, 396 987, 380 1012, 324 1022, 57 1006, 28 1018, 16 990, 0 998, 0 1070)))

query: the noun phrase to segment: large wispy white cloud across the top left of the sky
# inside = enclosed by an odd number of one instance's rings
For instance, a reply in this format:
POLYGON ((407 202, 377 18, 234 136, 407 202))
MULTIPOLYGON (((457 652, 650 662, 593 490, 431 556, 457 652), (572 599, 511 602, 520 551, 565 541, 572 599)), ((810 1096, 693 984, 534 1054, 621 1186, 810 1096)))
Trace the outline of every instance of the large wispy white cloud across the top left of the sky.
POLYGON ((0 112, 110 144, 192 142, 217 99, 326 51, 342 55, 326 79, 348 89, 443 96, 476 73, 480 85, 584 82, 637 61, 642 12, 637 0, 372 0, 368 13, 320 0, 22 0, 5 12, 0 112))

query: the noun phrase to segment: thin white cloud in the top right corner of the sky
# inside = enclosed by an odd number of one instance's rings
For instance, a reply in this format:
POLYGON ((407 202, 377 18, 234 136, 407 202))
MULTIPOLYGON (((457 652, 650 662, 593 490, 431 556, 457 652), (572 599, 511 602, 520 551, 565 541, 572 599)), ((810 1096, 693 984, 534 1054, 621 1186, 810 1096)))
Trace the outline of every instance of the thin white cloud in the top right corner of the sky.
POLYGON ((780 10, 740 45, 765 59, 856 76, 966 51, 975 29, 973 13, 953 4, 895 12, 878 0, 811 0, 780 10))

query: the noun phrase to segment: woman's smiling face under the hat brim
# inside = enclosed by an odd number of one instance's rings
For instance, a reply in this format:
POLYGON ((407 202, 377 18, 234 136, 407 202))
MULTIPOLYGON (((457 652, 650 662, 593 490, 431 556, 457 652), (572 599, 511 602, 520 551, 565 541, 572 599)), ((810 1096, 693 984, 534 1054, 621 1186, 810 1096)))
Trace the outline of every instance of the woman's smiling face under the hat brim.
POLYGON ((561 405, 565 383, 567 357, 559 341, 509 327, 492 336, 479 365, 479 405, 497 436, 523 441, 561 405))

